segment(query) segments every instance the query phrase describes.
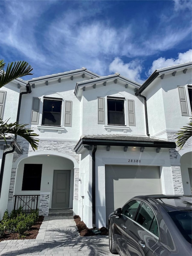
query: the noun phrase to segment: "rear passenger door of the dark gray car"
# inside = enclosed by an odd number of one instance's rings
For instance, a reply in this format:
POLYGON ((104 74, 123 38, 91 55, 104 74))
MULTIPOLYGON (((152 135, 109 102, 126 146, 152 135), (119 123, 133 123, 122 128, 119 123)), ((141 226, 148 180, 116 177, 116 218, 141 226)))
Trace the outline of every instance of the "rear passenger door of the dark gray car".
POLYGON ((126 256, 145 256, 158 242, 158 236, 159 229, 155 213, 147 203, 143 202, 127 230, 126 256))

